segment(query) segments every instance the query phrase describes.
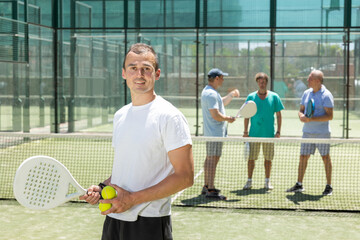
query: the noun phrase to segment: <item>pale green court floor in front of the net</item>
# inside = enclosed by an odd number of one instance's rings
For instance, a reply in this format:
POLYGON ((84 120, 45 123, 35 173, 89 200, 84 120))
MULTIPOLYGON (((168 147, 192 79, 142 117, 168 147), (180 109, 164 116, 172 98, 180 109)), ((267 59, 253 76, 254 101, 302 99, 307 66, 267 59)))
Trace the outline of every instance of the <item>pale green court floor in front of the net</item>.
MULTIPOLYGON (((97 206, 66 203, 32 211, 2 200, 0 212, 0 239, 101 239, 104 216, 97 206)), ((175 240, 360 239, 357 213, 174 206, 172 223, 175 240)))

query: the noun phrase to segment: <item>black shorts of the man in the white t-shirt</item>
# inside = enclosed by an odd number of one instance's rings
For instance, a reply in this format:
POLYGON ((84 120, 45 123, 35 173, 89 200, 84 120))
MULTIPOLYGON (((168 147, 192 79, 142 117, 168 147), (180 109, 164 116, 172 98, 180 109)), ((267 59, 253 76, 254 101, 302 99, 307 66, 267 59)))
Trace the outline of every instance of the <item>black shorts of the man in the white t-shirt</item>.
POLYGON ((170 216, 138 217, 127 222, 106 216, 102 240, 172 240, 170 216))

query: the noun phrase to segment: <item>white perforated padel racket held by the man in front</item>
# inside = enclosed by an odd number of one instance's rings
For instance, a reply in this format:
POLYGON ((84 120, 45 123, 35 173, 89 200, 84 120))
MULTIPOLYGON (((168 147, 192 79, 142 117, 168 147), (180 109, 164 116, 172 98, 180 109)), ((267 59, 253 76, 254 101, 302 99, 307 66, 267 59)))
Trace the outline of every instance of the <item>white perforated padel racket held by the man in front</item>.
POLYGON ((29 209, 47 210, 86 193, 59 161, 48 156, 26 159, 14 180, 16 200, 29 209), (69 193, 72 185, 76 192, 69 193))

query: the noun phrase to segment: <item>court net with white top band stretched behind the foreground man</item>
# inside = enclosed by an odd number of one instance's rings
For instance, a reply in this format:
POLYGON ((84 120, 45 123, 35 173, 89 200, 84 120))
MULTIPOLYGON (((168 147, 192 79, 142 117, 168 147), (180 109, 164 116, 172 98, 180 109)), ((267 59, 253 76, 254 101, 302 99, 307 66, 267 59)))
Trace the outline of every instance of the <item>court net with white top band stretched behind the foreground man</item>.
MULTIPOLYGON (((357 191, 360 172, 359 139, 299 139, 299 138, 205 138, 193 137, 195 181, 191 188, 172 197, 173 205, 247 208, 247 209, 305 209, 330 211, 359 211, 357 191), (206 198, 201 194, 204 185, 204 160, 207 142, 223 142, 222 156, 217 166, 215 185, 226 201, 206 198), (271 183, 274 189, 264 188, 264 159, 260 151, 250 190, 243 190, 247 181, 246 142, 273 143, 271 183), (308 161, 302 193, 286 189, 297 181, 301 143, 330 144, 332 159, 333 195, 323 196, 326 185, 322 158, 316 150, 308 161)), ((48 155, 62 162, 83 187, 97 184, 111 174, 113 149, 111 136, 100 134, 20 134, 0 133, 0 198, 13 199, 12 184, 16 169, 22 161, 34 155, 48 155)))

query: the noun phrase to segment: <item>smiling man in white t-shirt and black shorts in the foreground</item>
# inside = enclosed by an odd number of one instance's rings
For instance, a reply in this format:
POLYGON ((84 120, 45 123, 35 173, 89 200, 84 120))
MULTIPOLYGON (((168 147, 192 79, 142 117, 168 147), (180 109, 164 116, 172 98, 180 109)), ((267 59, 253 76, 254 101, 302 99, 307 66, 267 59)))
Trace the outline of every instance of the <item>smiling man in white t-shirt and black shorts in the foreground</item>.
POLYGON ((127 53, 122 76, 132 102, 115 113, 112 175, 91 186, 80 199, 97 204, 102 186, 117 197, 100 200, 112 207, 102 239, 173 239, 170 196, 192 186, 192 141, 184 115, 154 91, 160 78, 157 55, 151 46, 134 44, 127 53))

